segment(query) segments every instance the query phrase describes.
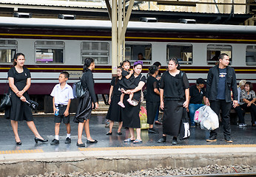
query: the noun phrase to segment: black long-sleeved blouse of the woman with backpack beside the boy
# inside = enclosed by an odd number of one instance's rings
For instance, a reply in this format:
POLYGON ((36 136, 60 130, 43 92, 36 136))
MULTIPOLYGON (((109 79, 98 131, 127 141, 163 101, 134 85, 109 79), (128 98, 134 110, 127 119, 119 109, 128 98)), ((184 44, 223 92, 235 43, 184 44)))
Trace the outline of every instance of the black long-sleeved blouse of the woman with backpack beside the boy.
POLYGON ((90 96, 92 97, 92 102, 97 103, 97 98, 94 91, 94 80, 93 80, 93 74, 90 69, 87 70, 87 72, 84 72, 82 78, 82 86, 85 89, 88 89, 90 96))

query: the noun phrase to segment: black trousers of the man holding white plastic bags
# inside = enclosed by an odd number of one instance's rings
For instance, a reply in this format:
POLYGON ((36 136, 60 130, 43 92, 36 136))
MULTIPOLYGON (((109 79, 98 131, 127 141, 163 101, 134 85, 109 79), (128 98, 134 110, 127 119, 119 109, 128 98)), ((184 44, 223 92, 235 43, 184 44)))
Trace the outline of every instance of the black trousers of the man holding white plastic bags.
MULTIPOLYGON (((210 100, 210 107, 217 115, 220 114, 220 109, 222 111, 222 123, 223 123, 223 133, 225 139, 230 139, 231 135, 231 128, 230 128, 230 117, 229 112, 231 109, 232 104, 226 103, 226 100, 210 100)), ((210 132, 210 137, 217 136, 217 129, 210 132)))

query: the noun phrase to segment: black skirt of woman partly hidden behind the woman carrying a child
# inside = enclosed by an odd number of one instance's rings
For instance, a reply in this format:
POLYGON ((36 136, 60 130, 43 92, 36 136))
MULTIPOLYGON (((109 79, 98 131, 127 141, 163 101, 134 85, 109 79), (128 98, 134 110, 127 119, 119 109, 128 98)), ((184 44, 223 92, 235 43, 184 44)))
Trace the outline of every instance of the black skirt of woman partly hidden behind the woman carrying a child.
POLYGON ((113 122, 122 122, 121 117, 121 106, 118 105, 120 101, 120 95, 113 94, 109 111, 107 111, 106 119, 109 119, 113 122))

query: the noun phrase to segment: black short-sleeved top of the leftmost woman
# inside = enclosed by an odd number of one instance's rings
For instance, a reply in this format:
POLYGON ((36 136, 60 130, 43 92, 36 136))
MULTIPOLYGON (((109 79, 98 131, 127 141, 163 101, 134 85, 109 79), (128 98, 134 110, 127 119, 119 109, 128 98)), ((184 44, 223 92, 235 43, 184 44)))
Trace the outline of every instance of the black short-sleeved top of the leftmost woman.
POLYGON ((23 67, 23 72, 18 73, 15 69, 15 67, 9 69, 8 71, 8 77, 14 78, 14 85, 17 87, 19 91, 24 89, 24 87, 27 85, 27 78, 30 78, 30 70, 23 67))

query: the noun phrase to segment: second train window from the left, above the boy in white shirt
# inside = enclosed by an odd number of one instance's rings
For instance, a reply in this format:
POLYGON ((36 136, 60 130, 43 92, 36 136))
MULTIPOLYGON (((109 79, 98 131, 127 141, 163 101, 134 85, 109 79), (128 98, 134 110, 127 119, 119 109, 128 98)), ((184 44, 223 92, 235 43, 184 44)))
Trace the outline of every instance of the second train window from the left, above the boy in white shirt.
POLYGON ((64 47, 62 41, 36 41, 36 63, 64 63, 64 47))

